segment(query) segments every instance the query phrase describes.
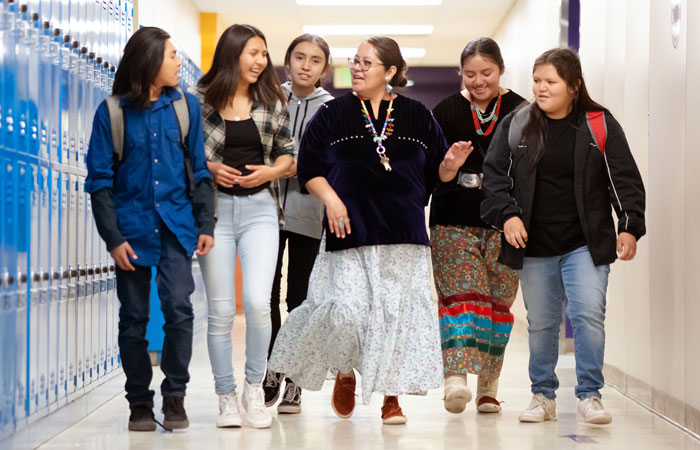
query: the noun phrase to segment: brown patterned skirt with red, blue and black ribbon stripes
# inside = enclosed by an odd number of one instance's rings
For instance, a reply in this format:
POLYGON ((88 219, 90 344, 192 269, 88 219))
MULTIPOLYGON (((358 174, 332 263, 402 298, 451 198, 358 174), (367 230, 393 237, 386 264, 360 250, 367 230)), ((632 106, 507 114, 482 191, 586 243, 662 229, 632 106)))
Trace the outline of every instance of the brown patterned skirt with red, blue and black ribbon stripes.
POLYGON ((430 240, 445 376, 498 378, 518 292, 517 273, 497 261, 501 234, 436 225, 430 240))

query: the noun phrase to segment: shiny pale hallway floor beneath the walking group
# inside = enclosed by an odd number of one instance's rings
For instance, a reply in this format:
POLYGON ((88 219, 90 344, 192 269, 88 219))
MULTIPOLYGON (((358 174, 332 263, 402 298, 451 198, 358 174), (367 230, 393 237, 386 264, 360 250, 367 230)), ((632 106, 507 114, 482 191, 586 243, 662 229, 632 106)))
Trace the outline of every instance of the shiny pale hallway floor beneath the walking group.
MULTIPOLYGON (((516 324, 516 326, 518 326, 516 324)), ((245 325, 237 318, 234 329, 236 374, 243 372, 245 325)), ((446 412, 442 392, 426 397, 405 396, 401 406, 408 415, 405 426, 383 426, 379 418, 382 398, 375 395, 368 406, 358 405, 350 420, 333 413, 329 399, 333 382, 320 392, 304 392, 303 412, 296 416, 273 413, 270 429, 217 429, 214 395, 204 336, 196 339, 191 366, 192 381, 186 407, 191 426, 183 432, 134 433, 127 431, 126 400, 119 396, 41 449, 694 449, 700 441, 683 433, 612 388, 605 388, 605 406, 613 414, 608 426, 579 424, 573 396, 573 358, 560 359, 561 388, 557 422, 521 424, 518 414, 530 400, 527 378, 527 341, 523 330, 514 332, 501 377, 503 412, 477 414, 474 404, 459 415, 446 412)), ((160 379, 160 378, 158 378, 160 379)), ((469 379, 470 386, 476 379, 469 379)), ((154 386, 158 383, 154 381, 154 386)), ((240 387, 239 387, 240 389, 240 387)), ((159 400, 158 400, 159 403, 159 400)), ((158 404, 157 407, 160 407, 158 404)))

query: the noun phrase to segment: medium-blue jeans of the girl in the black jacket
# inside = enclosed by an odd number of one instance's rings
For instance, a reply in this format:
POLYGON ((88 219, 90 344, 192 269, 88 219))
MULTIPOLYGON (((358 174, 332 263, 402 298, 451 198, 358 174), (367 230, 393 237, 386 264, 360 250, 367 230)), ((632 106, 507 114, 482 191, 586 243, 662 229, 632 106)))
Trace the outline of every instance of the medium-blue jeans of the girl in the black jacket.
POLYGON ((525 258, 518 272, 527 308, 533 394, 556 398, 562 304, 574 330, 576 397, 600 397, 605 350, 605 293, 610 265, 596 266, 587 246, 561 256, 525 258))

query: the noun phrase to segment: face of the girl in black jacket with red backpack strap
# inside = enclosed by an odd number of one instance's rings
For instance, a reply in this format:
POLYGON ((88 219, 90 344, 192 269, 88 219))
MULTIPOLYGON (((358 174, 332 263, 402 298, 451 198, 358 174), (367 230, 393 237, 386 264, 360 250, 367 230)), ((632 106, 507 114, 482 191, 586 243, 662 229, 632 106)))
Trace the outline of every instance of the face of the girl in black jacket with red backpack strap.
POLYGON ((543 64, 532 73, 532 93, 547 117, 562 119, 571 111, 575 91, 567 86, 553 65, 543 64))

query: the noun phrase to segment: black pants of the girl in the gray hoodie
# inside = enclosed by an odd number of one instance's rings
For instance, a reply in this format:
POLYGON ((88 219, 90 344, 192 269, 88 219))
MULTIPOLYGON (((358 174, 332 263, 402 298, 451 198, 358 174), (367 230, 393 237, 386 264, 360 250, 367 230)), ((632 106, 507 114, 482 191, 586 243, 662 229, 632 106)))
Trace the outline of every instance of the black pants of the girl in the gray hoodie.
POLYGON ((309 287, 309 276, 311 275, 311 270, 314 268, 316 255, 318 255, 318 249, 321 245, 320 239, 292 233, 291 231, 280 231, 277 269, 275 270, 275 280, 272 283, 272 293, 270 294, 272 335, 270 336, 270 348, 267 352, 268 358, 270 358, 272 347, 275 345, 275 338, 282 326, 282 319, 280 316, 280 286, 282 283, 282 255, 284 254, 287 241, 289 241, 289 255, 287 260, 287 312, 291 312, 306 299, 306 290, 309 287))

